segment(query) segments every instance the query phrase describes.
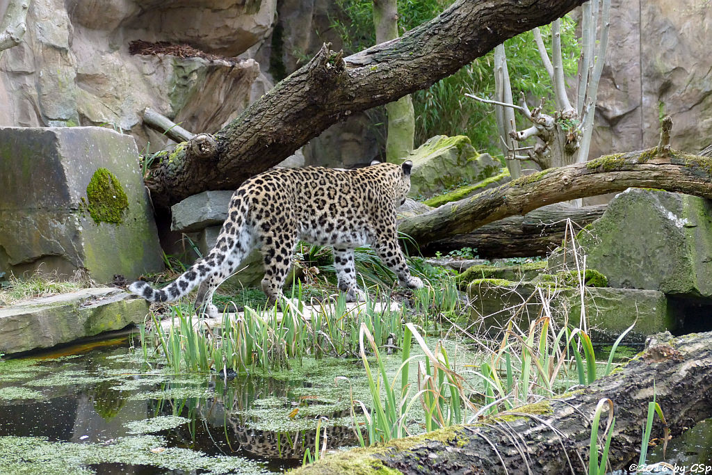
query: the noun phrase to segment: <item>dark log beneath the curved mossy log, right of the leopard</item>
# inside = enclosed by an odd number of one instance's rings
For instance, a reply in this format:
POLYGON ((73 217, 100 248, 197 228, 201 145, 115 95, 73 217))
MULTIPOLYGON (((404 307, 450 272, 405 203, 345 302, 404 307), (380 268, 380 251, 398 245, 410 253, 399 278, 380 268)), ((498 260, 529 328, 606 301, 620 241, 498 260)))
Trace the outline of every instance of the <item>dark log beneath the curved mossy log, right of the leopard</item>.
POLYGON ((581 208, 550 204, 524 216, 510 216, 486 224, 466 234, 446 239, 428 236, 431 241, 418 244, 425 256, 464 247, 477 249, 476 254, 482 259, 546 256, 561 245, 567 219, 574 223, 574 229, 579 229, 600 218, 606 208, 605 204, 581 208))

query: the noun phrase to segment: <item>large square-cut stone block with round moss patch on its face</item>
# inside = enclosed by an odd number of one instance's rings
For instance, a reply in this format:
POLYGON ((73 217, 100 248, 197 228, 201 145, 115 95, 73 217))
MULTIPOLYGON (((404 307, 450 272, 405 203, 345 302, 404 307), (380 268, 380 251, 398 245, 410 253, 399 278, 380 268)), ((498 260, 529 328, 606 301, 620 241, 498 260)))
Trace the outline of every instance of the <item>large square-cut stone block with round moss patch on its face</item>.
POLYGON ((163 268, 136 143, 100 127, 0 127, 0 271, 97 282, 163 268))

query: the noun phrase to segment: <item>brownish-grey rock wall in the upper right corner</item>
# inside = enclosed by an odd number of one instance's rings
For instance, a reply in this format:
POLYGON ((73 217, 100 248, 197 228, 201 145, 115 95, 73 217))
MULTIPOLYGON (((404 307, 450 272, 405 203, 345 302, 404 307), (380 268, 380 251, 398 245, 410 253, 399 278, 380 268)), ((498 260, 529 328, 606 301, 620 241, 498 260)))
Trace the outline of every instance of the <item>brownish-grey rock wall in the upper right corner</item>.
POLYGON ((703 0, 613 0, 590 157, 641 150, 671 115, 671 143, 712 143, 712 8, 703 0))

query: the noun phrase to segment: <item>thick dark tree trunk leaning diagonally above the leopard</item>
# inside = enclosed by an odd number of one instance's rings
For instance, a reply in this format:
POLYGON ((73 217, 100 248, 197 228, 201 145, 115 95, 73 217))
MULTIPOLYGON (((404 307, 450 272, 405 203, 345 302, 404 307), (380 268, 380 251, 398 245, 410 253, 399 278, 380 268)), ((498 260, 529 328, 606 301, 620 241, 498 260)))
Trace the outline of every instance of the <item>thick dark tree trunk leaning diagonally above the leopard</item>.
MULTIPOLYGON (((432 85, 582 0, 456 1, 429 23, 348 58, 324 47, 216 134, 216 154, 172 154, 150 170, 156 207, 206 189, 235 189, 352 113, 432 85)), ((196 131, 198 132, 198 131, 196 131)))

